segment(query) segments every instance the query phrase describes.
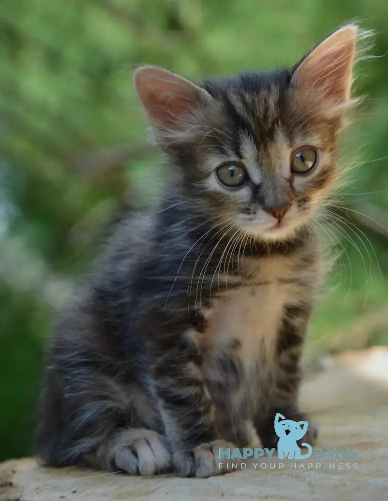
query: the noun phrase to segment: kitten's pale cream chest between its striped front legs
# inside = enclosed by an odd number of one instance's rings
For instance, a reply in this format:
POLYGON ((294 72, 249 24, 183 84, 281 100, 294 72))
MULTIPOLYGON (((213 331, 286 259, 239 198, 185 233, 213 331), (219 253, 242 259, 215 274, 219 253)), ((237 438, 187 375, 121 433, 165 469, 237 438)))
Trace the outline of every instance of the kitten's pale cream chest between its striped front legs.
POLYGON ((222 367, 235 366, 243 378, 257 370, 270 373, 284 307, 296 304, 305 294, 297 271, 285 259, 253 261, 245 267, 249 279, 224 293, 207 312, 203 346, 213 380, 225 379, 222 367))

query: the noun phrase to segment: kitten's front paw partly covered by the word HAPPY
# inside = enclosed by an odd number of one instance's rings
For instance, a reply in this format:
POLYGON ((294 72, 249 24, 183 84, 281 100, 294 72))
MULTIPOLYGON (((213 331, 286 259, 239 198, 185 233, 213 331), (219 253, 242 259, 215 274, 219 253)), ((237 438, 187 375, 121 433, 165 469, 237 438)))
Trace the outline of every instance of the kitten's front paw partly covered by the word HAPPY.
POLYGON ((232 462, 238 463, 238 459, 220 459, 220 449, 230 448, 235 445, 225 440, 213 440, 212 442, 201 443, 194 447, 192 452, 177 452, 173 455, 174 465, 180 476, 207 477, 220 475, 232 469, 232 462))

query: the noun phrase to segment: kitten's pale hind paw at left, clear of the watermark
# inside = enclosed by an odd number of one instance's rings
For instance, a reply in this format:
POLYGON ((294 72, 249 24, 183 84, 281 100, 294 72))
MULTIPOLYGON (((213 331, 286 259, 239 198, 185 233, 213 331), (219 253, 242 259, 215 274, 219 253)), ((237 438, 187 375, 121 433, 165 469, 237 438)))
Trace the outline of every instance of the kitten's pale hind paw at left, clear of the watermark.
POLYGON ((112 470, 131 475, 157 475, 171 468, 166 438, 156 431, 133 428, 116 435, 108 450, 112 470))

